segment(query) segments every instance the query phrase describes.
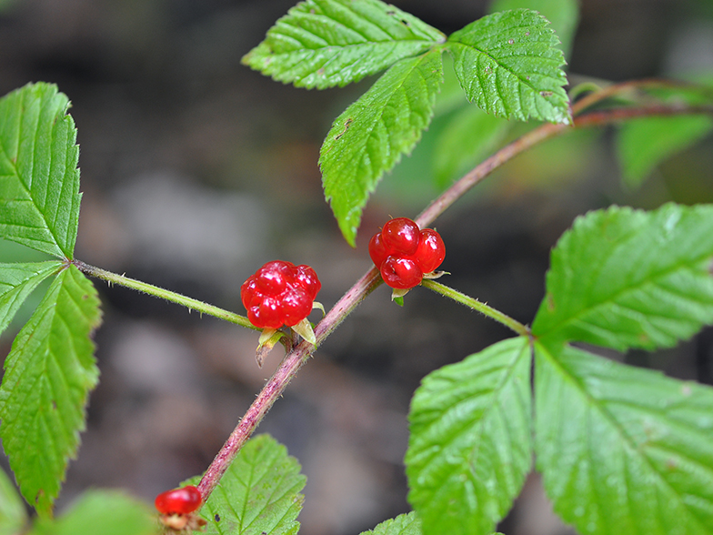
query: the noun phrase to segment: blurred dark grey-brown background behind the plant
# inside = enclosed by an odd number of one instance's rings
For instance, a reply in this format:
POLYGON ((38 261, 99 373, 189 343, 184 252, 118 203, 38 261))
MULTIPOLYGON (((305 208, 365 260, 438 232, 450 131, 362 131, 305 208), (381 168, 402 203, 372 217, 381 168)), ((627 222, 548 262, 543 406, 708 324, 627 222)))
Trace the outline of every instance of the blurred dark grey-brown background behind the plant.
MULTIPOLYGON (((485 0, 397 0, 445 33, 485 0)), ((292 0, 0 0, 0 95, 47 81, 72 100, 84 192, 75 257, 244 313, 240 284, 267 260, 315 267, 326 308, 370 266, 389 216, 416 217, 444 182, 431 171, 437 121, 383 179, 346 245, 316 165, 331 121, 372 80, 326 91, 282 86, 240 65, 292 0)), ((568 72, 620 81, 713 72, 710 0, 583 0, 568 72)), ((562 136, 507 164, 435 226, 446 283, 529 323, 548 252, 577 214, 612 203, 713 201, 713 142, 622 186, 613 130, 562 136)), ((0 242, 0 261, 35 259, 0 242)), ((87 487, 146 501, 201 473, 276 368, 257 368, 253 331, 96 281, 102 376, 61 509, 87 487)), ((36 301, 35 301, 36 302, 36 301)), ((22 325, 0 338, 0 356, 22 325)), ((315 314, 312 317, 318 319, 315 314)), ((409 510, 408 402, 428 372, 507 338, 505 328, 425 289, 399 308, 388 288, 356 309, 302 368, 259 432, 308 478, 304 535, 350 535, 409 510)), ((611 355, 713 382, 713 331, 678 348, 611 355)), ((1 454, 0 454, 1 455, 1 454)), ((0 466, 7 462, 0 457, 0 466)), ((564 535, 536 475, 508 535, 564 535)))

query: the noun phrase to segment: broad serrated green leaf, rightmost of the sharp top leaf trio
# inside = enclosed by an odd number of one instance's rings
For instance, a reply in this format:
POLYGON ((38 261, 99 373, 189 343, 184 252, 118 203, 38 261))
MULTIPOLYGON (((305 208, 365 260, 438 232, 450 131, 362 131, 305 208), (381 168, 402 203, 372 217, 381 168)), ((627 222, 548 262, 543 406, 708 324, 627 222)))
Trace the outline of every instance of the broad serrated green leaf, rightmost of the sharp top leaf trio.
POLYGON ((565 57, 547 19, 517 9, 484 16, 448 37, 468 100, 500 117, 572 122, 560 68, 565 57))

